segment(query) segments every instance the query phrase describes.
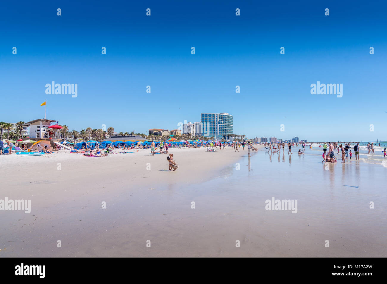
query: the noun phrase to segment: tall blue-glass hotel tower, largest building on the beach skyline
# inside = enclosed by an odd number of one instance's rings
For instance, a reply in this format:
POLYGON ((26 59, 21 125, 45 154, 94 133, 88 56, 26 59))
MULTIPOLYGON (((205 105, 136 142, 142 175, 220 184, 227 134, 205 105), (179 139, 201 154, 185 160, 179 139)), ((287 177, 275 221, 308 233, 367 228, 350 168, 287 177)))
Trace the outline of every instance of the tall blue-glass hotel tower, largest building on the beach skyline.
POLYGON ((202 113, 202 135, 205 137, 214 136, 215 139, 228 139, 228 134, 234 133, 234 118, 227 112, 202 113))

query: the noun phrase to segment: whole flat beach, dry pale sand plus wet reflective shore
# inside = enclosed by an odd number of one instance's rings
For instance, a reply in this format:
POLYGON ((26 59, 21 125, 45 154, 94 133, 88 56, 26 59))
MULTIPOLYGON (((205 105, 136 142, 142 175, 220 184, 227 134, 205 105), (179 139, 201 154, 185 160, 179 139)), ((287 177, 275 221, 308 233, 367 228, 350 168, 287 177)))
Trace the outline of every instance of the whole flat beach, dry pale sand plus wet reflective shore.
POLYGON ((318 150, 289 158, 260 148, 250 158, 247 149, 170 149, 176 172, 166 171, 166 154, 149 150, 3 156, 0 198, 31 199, 31 213, 1 212, 0 256, 386 256, 385 192, 370 186, 370 177, 382 184, 385 167, 327 169, 318 150), (297 199, 297 214, 265 210, 272 197, 297 199))

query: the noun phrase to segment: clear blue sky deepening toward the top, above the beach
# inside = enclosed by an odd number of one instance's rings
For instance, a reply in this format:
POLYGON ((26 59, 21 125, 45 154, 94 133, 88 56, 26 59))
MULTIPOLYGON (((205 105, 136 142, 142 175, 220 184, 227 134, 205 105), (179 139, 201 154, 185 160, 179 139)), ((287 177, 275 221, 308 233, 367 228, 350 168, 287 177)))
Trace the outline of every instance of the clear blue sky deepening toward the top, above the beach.
POLYGON ((0 120, 44 117, 47 100, 47 117, 70 130, 146 133, 228 112, 235 134, 249 138, 385 141, 386 9, 383 1, 2 2, 0 120), (46 95, 51 81, 77 83, 78 96, 46 95), (342 83, 343 96, 310 94, 317 81, 342 83))

